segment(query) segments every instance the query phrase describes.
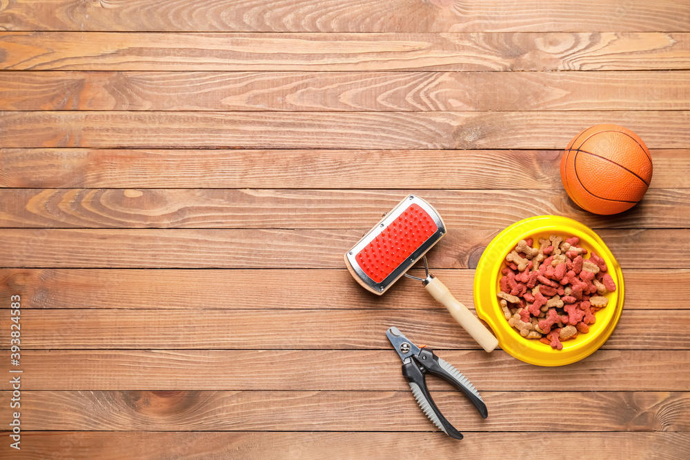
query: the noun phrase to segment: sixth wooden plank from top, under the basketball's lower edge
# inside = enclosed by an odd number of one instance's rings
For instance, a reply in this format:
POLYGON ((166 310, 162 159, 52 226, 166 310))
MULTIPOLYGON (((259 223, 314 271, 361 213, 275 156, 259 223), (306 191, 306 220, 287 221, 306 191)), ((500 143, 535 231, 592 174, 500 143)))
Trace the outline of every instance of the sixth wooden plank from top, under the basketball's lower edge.
MULTIPOLYGON (((689 165, 690 170, 690 165, 689 165)), ((0 189, 0 227, 366 228, 409 190, 0 189)), ((689 228, 690 188, 649 190, 612 220, 583 212, 562 190, 419 190, 464 230, 555 214, 591 228, 689 228), (486 213, 486 203, 492 203, 486 213)))

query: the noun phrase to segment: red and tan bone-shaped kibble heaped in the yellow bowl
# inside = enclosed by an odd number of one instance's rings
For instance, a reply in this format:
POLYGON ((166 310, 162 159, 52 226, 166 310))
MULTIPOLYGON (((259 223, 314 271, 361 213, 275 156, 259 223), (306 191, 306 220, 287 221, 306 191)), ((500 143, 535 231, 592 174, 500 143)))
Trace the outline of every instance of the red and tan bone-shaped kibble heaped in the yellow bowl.
POLYGON ((539 248, 533 248, 534 240, 521 239, 506 257, 501 310, 522 337, 562 350, 562 341, 589 332, 615 283, 604 259, 594 252, 584 258, 587 250, 578 237, 552 234, 538 239, 539 248))

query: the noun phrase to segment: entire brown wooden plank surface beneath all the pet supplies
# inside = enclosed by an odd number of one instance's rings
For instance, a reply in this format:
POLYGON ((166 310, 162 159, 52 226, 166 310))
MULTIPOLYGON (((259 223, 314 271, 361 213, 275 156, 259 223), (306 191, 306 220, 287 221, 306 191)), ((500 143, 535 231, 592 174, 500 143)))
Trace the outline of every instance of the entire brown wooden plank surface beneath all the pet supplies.
POLYGON ((1 0, 0 426, 20 294, 17 459, 690 457, 687 0, 1 0), (614 217, 560 149, 619 123, 651 149, 614 217), (509 224, 559 214, 624 268, 618 328, 539 368, 486 354, 417 282, 342 254, 415 192, 472 304, 509 224), (477 386, 417 408, 397 326, 477 386))

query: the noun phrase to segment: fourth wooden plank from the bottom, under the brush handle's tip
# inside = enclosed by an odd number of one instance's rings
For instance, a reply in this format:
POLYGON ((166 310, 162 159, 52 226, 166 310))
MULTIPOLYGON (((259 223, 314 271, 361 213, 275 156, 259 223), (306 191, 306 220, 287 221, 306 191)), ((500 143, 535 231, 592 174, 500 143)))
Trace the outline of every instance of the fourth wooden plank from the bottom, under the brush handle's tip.
MULTIPOLYGON (((233 299, 227 299, 231 305, 233 299)), ((431 299, 428 303, 431 303, 431 299)), ((126 308, 126 305, 122 306, 126 308)), ((228 305, 229 307, 229 305, 228 305)), ((371 350, 392 326, 433 349, 481 350, 444 310, 32 310, 22 350, 371 350), (116 328, 113 325, 117 325, 116 328), (204 331, 199 334, 198 331, 204 331), (296 333, 299 331, 299 333, 296 333)), ((423 307, 420 306, 420 307, 423 307)), ((10 330, 10 315, 0 317, 10 330)), ((517 335, 517 332, 516 332, 517 335)), ((525 339, 526 340, 526 339, 525 339)), ((548 347, 544 345, 544 347, 548 347)), ((9 341, 0 344, 8 350, 9 341)), ((690 310, 625 310, 607 350, 688 350, 690 310)))

